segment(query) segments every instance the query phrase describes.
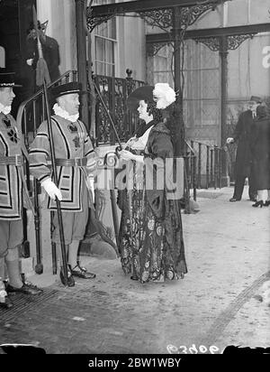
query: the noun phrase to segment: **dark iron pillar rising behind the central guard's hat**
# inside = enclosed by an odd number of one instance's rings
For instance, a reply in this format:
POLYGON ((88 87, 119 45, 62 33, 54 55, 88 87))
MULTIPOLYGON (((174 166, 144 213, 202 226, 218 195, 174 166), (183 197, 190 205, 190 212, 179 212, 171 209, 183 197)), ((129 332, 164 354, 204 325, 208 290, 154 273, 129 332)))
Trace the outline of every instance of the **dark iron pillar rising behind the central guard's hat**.
MULTIPOLYGON (((76 3, 76 60, 77 60, 77 78, 82 83, 83 90, 87 90, 87 68, 86 68, 86 33, 85 33, 85 1, 75 0, 76 3)), ((88 95, 83 94, 81 102, 81 119, 86 128, 90 129, 88 122, 88 95)))

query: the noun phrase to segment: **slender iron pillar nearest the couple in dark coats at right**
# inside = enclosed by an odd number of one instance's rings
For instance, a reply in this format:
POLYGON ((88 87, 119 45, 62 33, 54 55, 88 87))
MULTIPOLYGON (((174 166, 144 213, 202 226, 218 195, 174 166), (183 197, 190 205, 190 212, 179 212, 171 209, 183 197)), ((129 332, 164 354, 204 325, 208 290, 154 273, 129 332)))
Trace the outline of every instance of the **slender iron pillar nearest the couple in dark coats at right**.
MULTIPOLYGON (((228 86, 228 40, 226 36, 220 37, 220 79, 221 79, 221 107, 220 107, 220 147, 226 144, 227 128, 227 86, 228 86)), ((226 153, 221 153, 221 187, 229 186, 229 174, 226 163, 226 153)))

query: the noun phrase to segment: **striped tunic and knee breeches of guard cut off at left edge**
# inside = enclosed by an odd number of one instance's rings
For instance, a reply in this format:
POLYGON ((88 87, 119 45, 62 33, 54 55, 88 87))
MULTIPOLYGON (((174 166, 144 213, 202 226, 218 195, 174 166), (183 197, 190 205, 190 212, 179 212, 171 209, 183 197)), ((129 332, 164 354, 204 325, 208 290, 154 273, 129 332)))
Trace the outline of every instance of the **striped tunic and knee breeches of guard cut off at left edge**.
POLYGON ((22 146, 14 117, 0 112, 0 257, 23 243, 23 204, 33 209, 23 178, 22 146))

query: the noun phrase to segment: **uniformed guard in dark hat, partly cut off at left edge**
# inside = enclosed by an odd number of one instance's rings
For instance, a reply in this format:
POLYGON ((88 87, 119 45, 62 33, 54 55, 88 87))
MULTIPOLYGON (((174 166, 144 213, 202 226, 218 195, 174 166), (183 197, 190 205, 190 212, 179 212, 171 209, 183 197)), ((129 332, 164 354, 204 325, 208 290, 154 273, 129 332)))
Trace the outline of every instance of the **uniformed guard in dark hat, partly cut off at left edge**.
POLYGON ((21 127, 10 110, 15 94, 14 72, 0 72, 0 308, 14 306, 9 293, 39 294, 42 291, 23 281, 19 249, 23 243, 23 203, 31 207, 23 176, 23 154, 28 157, 21 127), (6 268, 6 272, 5 272, 6 268), (6 276, 7 274, 7 276, 6 276), (8 281, 4 284, 4 280, 8 281))

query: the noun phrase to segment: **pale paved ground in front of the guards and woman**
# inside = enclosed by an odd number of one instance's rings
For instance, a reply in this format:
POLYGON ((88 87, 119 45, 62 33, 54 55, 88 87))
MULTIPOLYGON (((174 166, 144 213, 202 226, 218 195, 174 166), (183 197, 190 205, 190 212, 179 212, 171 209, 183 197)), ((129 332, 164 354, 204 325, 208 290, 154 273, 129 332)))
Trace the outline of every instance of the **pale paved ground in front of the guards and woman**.
POLYGON ((222 353, 229 345, 270 346, 270 208, 231 203, 232 188, 197 191, 200 211, 184 214, 188 273, 183 280, 139 284, 118 258, 95 252, 82 263, 97 276, 65 288, 50 271, 28 279, 39 296, 13 297, 0 312, 0 344, 48 354, 222 353))

